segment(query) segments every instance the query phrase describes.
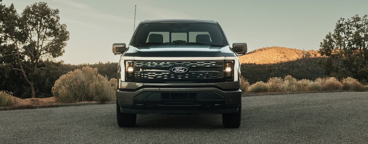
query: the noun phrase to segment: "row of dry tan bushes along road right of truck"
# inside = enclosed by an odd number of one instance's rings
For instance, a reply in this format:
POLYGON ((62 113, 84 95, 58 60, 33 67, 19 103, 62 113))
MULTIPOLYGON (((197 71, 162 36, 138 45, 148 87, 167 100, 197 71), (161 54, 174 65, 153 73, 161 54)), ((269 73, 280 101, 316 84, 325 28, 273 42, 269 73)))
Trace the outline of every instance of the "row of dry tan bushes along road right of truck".
POLYGON ((245 84, 242 89, 245 87, 248 87, 246 90, 248 93, 341 90, 368 91, 368 86, 363 86, 360 82, 358 82, 358 80, 350 77, 343 79, 342 82, 340 82, 334 77, 318 78, 312 81, 308 79, 297 80, 290 75, 285 76, 285 78, 269 78, 267 83, 261 81, 256 82, 251 86, 249 86, 249 84, 245 84))

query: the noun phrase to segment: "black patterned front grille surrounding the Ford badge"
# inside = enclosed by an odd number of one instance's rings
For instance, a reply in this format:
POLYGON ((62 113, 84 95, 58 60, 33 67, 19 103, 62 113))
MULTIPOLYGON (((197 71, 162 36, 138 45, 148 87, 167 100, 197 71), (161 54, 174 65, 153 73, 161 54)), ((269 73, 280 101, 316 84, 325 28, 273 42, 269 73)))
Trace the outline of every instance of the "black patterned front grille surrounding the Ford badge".
POLYGON ((149 83, 211 83, 224 82, 224 61, 135 61, 134 81, 149 83), (188 66, 188 73, 170 72, 175 65, 188 66))

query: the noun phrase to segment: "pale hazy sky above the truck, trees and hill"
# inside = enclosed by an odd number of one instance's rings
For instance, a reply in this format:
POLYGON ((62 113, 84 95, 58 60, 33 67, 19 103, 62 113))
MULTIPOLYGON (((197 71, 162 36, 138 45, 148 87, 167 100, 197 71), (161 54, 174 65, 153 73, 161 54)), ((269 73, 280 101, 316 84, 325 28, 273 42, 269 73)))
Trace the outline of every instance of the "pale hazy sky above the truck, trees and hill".
POLYGON ((18 13, 44 1, 59 9, 70 40, 57 61, 66 64, 118 62, 113 43, 129 43, 135 27, 152 19, 203 19, 219 22, 231 43, 248 51, 281 46, 318 50, 339 18, 368 14, 368 0, 3 0, 18 13))

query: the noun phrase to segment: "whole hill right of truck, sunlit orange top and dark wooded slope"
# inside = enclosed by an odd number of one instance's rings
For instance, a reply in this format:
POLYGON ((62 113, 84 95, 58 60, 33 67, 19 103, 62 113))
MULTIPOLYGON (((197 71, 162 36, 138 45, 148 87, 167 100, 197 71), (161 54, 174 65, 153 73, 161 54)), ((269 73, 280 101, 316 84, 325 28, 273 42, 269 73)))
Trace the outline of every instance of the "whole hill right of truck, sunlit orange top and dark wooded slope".
POLYGON ((287 75, 299 80, 325 77, 325 71, 318 64, 323 59, 315 50, 286 47, 264 47, 239 57, 241 75, 251 84, 287 75))

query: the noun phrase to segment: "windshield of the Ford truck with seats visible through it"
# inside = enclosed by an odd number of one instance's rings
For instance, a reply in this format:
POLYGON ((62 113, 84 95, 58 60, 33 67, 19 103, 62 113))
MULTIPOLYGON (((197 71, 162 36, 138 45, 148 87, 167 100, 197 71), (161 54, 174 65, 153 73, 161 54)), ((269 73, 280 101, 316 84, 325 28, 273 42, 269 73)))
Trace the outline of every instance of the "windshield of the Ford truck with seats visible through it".
POLYGON ((151 23, 139 25, 131 45, 228 45, 219 25, 212 23, 151 23))

